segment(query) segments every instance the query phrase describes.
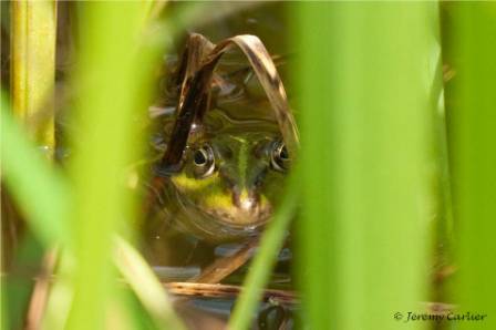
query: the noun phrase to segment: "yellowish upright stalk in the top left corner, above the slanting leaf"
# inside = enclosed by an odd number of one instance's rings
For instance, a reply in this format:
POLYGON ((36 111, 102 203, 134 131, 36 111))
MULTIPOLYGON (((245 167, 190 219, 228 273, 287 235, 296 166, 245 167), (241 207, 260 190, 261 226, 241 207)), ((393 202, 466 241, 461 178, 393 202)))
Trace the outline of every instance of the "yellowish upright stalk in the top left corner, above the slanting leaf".
POLYGON ((56 2, 12 1, 11 22, 13 112, 53 152, 56 2))

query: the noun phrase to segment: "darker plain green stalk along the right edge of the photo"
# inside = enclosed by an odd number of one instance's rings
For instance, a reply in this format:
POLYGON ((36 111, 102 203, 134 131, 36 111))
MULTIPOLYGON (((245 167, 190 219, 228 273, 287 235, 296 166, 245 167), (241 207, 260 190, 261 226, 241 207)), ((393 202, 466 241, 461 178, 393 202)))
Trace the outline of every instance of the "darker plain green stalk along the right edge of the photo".
POLYGON ((487 314, 461 329, 495 329, 496 321, 496 3, 446 3, 445 61, 455 72, 446 85, 458 225, 461 313, 487 314))

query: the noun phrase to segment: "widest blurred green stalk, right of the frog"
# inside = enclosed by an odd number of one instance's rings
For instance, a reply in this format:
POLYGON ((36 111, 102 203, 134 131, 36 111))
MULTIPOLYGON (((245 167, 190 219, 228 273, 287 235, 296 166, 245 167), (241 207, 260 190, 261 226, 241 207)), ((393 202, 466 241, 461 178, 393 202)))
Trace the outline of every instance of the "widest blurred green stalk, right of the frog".
POLYGON ((313 2, 296 14, 304 321, 421 328, 394 316, 423 312, 425 299, 437 3, 313 2))

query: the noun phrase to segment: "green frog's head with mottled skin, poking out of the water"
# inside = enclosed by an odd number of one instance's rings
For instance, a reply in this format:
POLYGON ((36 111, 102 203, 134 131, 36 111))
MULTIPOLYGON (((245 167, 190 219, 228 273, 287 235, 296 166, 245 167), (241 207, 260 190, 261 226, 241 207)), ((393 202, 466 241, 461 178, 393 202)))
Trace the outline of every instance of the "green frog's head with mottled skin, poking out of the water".
POLYGON ((275 149, 281 145, 277 127, 257 128, 193 134, 183 171, 162 192, 161 217, 213 243, 256 235, 271 216, 287 175, 273 166, 275 149), (195 161, 199 149, 210 156, 202 166, 195 161))

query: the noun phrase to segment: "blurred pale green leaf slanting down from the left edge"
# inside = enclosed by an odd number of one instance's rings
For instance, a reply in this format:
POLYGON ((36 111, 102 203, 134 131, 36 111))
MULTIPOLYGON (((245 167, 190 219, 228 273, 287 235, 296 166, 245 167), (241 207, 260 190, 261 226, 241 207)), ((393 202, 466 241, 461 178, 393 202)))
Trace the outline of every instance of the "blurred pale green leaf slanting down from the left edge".
POLYGON ((3 182, 44 244, 68 243, 69 187, 11 117, 3 95, 1 102, 3 182))

